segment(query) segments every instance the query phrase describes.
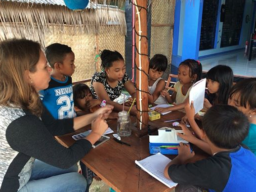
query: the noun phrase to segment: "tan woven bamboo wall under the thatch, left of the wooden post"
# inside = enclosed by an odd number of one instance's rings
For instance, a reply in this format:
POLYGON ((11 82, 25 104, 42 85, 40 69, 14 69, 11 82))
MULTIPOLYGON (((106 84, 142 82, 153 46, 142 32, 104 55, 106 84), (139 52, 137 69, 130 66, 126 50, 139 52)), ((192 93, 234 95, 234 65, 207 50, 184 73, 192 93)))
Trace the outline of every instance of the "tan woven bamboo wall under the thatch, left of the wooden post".
MULTIPOLYGON (((52 27, 52 33, 46 35, 46 46, 58 42, 70 46, 75 53, 75 73, 72 76, 73 81, 91 78, 92 75, 100 70, 101 60, 98 58, 98 68, 94 60, 98 50, 110 49, 117 50, 123 56, 125 55, 125 36, 120 35, 114 28, 110 28, 107 34, 80 34, 69 35, 62 34, 60 31, 52 27), (97 40, 98 38, 98 40, 97 40), (96 70, 96 68, 98 70, 96 70)), ((65 31, 69 27, 65 27, 65 31)))

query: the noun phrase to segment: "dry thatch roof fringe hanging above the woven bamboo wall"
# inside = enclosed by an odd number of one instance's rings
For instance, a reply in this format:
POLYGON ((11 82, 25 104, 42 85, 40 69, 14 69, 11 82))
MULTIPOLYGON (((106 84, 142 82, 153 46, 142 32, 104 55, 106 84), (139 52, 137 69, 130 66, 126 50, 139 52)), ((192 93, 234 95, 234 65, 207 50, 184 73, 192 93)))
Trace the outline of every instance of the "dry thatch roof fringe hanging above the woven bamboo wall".
MULTIPOLYGON (((33 38, 35 40, 42 39, 49 29, 52 29, 52 26, 55 30, 67 34, 105 33, 109 27, 113 28, 114 26, 117 32, 126 35, 125 12, 118 9, 117 6, 101 6, 91 3, 90 6, 93 8, 73 11, 66 6, 50 3, 53 1, 0 0, 0 40, 23 38, 24 34, 36 36, 33 38), (43 2, 47 2, 47 4, 43 2), (65 30, 66 26, 70 26, 70 30, 65 30)), ((61 3, 61 1, 54 2, 61 3)), ((121 3, 125 0, 117 1, 121 3)))

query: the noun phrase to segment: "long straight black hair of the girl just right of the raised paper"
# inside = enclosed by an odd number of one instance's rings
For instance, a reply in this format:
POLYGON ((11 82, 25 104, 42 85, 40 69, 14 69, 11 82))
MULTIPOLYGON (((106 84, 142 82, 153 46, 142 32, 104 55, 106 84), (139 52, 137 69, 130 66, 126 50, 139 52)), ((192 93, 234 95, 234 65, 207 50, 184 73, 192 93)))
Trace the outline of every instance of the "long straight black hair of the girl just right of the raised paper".
MULTIPOLYGON (((232 69, 225 65, 217 65, 207 72, 206 78, 219 83, 217 98, 215 100, 217 104, 227 104, 234 79, 232 69)), ((211 95, 215 96, 216 94, 211 95)))

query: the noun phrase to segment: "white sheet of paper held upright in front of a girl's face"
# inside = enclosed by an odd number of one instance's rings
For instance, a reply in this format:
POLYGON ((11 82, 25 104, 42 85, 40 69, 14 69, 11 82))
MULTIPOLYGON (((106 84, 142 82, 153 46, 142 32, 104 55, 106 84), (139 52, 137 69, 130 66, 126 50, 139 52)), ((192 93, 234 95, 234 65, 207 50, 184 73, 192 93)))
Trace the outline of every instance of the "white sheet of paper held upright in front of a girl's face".
POLYGON ((197 81, 189 92, 189 104, 194 102, 195 113, 197 114, 204 107, 206 78, 197 81))

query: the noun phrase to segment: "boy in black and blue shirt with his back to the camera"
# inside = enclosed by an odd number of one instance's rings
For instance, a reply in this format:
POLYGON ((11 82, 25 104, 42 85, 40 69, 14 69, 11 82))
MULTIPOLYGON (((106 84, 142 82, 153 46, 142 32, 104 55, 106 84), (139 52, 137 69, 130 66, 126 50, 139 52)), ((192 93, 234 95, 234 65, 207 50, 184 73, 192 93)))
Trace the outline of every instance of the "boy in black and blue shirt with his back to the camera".
MULTIPOLYGON (((212 156, 185 163, 194 156, 180 143, 178 155, 166 166, 165 176, 179 183, 176 192, 253 192, 256 189, 256 156, 240 144, 249 131, 247 117, 228 105, 215 105, 203 117, 203 140, 212 156)), ((186 134, 189 130, 181 125, 186 134)))

